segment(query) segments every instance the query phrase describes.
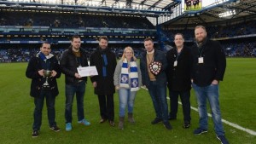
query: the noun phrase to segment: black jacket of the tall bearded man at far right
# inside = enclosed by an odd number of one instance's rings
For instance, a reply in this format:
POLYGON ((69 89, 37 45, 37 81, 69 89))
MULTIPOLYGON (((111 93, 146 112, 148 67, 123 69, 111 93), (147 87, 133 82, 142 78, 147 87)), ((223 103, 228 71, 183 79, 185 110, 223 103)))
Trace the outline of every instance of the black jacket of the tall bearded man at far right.
POLYGON ((226 67, 224 49, 217 41, 206 40, 201 49, 195 45, 192 48, 193 70, 192 78, 198 86, 212 84, 212 80, 223 80, 226 67), (203 57, 204 62, 199 64, 198 58, 203 57))

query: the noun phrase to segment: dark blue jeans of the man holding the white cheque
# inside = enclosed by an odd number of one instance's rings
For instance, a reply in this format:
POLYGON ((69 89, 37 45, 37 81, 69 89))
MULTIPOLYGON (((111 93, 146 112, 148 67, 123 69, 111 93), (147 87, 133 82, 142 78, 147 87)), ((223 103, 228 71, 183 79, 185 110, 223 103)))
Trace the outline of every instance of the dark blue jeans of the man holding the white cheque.
POLYGON ((66 84, 66 123, 72 123, 73 97, 75 94, 77 99, 78 120, 80 121, 84 119, 84 92, 85 81, 79 82, 77 84, 66 84))

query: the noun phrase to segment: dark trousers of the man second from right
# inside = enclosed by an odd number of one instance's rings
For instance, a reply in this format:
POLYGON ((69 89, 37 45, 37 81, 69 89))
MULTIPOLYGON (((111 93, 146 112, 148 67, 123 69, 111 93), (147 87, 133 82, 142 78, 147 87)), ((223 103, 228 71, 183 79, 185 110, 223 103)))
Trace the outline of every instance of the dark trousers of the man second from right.
POLYGON ((176 118, 177 117, 177 101, 178 95, 180 95, 180 99, 183 104, 183 120, 184 122, 190 122, 190 91, 169 91, 170 96, 170 105, 171 105, 171 112, 169 117, 176 118))

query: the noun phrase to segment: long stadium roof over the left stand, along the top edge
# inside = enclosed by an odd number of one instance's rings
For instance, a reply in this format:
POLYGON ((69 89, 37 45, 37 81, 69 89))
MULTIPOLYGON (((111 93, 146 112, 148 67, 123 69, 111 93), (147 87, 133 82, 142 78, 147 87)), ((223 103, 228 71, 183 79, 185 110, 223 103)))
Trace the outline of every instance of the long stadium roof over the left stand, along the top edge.
POLYGON ((172 14, 181 0, 0 0, 4 9, 47 9, 94 13, 172 14))

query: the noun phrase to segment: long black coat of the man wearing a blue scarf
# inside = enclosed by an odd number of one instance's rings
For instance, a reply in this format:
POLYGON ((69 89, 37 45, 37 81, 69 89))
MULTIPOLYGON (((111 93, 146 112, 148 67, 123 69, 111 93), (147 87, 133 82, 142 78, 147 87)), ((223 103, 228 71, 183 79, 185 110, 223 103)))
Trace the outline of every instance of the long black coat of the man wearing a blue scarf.
POLYGON ((113 95, 115 92, 114 85, 113 85, 113 73, 116 66, 116 58, 115 54, 111 52, 109 48, 104 50, 104 52, 101 50, 101 48, 97 48, 96 51, 94 51, 90 55, 90 66, 96 66, 98 75, 91 77, 91 82, 96 82, 96 88, 95 88, 95 94, 96 95, 113 95), (102 54, 107 55, 108 60, 108 66, 107 69, 107 77, 104 78, 102 76, 102 65, 103 65, 103 59, 102 54))

